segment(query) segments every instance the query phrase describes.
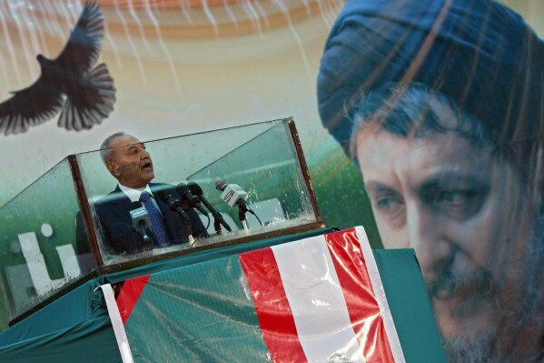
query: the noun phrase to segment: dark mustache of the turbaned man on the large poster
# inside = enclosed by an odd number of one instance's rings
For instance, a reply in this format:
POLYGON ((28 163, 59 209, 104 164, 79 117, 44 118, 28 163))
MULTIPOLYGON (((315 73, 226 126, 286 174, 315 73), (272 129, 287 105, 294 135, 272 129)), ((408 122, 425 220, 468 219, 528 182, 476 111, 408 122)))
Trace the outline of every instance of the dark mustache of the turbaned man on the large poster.
POLYGON ((493 277, 484 269, 456 274, 449 268, 427 283, 427 291, 434 298, 485 296, 490 294, 494 285, 493 277))

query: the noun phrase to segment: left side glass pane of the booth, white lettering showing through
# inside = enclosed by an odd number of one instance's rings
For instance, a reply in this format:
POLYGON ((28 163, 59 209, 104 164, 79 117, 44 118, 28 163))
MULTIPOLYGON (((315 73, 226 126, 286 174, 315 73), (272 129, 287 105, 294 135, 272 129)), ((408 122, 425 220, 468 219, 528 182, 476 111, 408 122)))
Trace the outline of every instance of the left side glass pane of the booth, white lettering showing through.
MULTIPOLYGON (((75 243, 77 194, 67 159, 0 208, 0 317, 18 317, 94 269, 75 243)), ((85 230, 83 230, 84 233, 85 230)), ((82 251, 83 250, 83 251, 82 251)))

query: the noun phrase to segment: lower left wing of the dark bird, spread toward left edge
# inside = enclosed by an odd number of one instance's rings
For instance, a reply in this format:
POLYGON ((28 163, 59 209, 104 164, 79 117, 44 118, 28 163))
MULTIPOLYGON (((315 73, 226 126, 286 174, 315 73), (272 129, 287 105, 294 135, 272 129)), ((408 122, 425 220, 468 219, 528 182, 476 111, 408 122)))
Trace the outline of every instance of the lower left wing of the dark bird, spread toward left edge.
POLYGON ((64 104, 58 89, 45 82, 43 77, 14 94, 0 104, 0 134, 6 136, 24 133, 29 126, 44 123, 64 104))

